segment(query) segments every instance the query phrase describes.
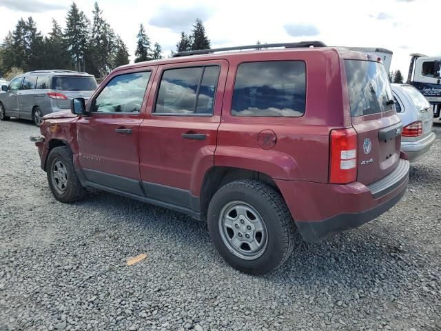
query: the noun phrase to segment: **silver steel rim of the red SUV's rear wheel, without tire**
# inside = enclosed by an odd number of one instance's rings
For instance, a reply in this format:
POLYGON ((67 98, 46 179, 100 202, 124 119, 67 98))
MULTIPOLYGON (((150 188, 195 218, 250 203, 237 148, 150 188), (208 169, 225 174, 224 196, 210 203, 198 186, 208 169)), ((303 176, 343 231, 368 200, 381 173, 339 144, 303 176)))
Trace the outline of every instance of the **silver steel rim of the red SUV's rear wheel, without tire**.
POLYGON ((240 259, 257 259, 267 248, 267 227, 263 218, 243 201, 232 201, 222 208, 219 232, 229 251, 240 259))

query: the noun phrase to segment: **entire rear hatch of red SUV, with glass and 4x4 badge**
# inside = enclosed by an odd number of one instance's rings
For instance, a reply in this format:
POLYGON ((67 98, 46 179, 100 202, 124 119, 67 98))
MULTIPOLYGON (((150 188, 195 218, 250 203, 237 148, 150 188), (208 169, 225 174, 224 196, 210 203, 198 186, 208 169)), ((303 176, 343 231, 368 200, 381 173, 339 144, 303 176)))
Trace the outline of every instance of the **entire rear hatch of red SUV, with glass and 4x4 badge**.
POLYGON ((386 70, 376 61, 345 60, 352 126, 357 132, 357 181, 368 185, 400 159, 402 123, 386 70))

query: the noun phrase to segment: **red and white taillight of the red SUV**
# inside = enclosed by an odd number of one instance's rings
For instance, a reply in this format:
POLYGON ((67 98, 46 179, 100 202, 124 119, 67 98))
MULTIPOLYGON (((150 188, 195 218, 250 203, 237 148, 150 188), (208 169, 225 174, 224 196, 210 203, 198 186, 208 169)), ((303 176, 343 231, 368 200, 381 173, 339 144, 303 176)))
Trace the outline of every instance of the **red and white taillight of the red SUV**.
POLYGON ((353 128, 331 131, 329 183, 347 184, 357 179, 357 132, 353 128))

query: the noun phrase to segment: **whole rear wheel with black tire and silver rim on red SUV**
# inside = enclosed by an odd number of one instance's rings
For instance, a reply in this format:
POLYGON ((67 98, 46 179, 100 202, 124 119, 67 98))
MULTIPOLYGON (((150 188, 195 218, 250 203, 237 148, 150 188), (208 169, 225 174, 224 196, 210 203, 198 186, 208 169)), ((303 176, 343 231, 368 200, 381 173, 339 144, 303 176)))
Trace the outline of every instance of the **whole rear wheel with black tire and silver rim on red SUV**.
POLYGON ((294 249, 295 227, 285 201, 259 181, 245 179, 220 188, 209 203, 207 222, 220 256, 248 274, 276 270, 294 249))

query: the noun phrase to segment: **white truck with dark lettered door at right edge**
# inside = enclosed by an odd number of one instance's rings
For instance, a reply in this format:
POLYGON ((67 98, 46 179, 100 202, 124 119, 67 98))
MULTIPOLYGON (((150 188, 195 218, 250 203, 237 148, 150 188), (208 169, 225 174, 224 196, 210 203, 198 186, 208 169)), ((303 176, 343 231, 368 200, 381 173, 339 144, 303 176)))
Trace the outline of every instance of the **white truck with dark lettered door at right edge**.
POLYGON ((433 117, 440 117, 441 111, 441 55, 428 57, 411 54, 411 64, 407 76, 408 84, 418 88, 433 107, 433 117))

